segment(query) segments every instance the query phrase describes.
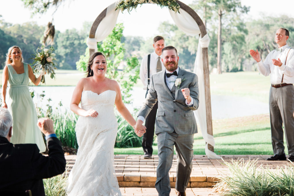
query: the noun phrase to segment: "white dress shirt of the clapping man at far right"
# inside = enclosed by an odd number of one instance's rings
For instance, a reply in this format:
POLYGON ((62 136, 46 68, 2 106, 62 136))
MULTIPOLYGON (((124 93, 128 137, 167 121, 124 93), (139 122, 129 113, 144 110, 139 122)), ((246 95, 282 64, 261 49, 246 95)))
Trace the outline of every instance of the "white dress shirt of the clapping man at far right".
POLYGON ((290 50, 290 47, 288 44, 285 46, 282 46, 282 51, 271 51, 268 56, 265 58, 265 61, 259 61, 257 63, 258 65, 258 71, 263 74, 264 76, 270 75, 270 83, 271 84, 281 84, 282 83, 282 77, 283 83, 293 84, 294 83, 294 49, 292 48, 290 50), (290 50, 290 51, 289 51, 290 50), (289 54, 288 54, 289 52, 289 54), (286 56, 287 61, 285 65, 286 56), (275 66, 272 63, 272 59, 278 60, 280 58, 282 65, 275 66))

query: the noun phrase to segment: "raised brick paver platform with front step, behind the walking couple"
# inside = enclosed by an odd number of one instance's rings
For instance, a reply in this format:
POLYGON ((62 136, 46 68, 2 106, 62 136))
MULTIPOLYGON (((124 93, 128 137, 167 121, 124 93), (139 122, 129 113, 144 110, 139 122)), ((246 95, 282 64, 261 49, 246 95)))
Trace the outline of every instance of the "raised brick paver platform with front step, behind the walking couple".
MULTIPOLYGON (((76 155, 67 155, 66 162, 68 173, 75 163, 76 155)), ((266 161, 269 155, 222 155, 226 162, 230 160, 256 160, 258 165, 263 164, 273 169, 277 165, 286 165, 287 161, 266 161)), ((208 159, 205 155, 194 155, 193 168, 188 187, 212 187, 221 175, 226 175, 228 168, 221 159, 208 159)), ((114 164, 116 176, 120 187, 154 187, 156 181, 156 167, 158 156, 151 159, 143 159, 143 155, 115 155, 114 164)), ((174 155, 173 165, 170 170, 171 187, 176 183, 176 155, 174 155)))

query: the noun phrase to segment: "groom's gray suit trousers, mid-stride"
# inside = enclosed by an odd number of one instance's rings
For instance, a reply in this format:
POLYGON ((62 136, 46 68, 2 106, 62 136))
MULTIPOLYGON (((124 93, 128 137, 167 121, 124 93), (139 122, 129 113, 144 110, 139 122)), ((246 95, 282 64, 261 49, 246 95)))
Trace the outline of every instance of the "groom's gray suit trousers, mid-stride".
POLYGON ((177 153, 177 180, 176 190, 185 192, 192 170, 193 136, 194 134, 178 135, 173 133, 157 133, 158 140, 158 167, 156 171, 155 187, 159 196, 168 196, 171 192, 169 170, 173 162, 173 148, 177 153))

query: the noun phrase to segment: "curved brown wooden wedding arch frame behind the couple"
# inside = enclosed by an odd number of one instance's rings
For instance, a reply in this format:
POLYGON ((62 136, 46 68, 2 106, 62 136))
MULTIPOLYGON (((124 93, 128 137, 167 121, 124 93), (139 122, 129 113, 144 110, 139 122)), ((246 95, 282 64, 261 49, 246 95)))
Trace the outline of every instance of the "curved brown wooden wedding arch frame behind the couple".
MULTIPOLYGON (((201 36, 206 35, 206 28, 201 20, 201 18, 198 16, 198 14, 189 6, 182 3, 181 1, 176 2, 180 5, 180 8, 186 11, 198 24, 198 27, 201 32, 201 36)), ((100 24, 100 22, 104 19, 106 16, 107 8, 104 9, 96 18, 96 20, 93 22, 89 38, 95 38, 96 30, 100 24)), ((199 35, 200 36, 200 35, 199 35)), ((94 49, 90 49, 90 56, 95 52, 94 49)), ((206 103, 206 122, 207 122, 207 133, 209 135, 213 135, 212 131, 212 115, 211 115, 211 96, 210 96, 210 83, 209 83, 209 67, 208 67, 208 48, 202 48, 202 54, 203 54, 203 78, 204 78, 204 89, 205 89, 205 103, 206 103)), ((214 151, 213 146, 208 144, 208 149, 212 152, 214 151)))

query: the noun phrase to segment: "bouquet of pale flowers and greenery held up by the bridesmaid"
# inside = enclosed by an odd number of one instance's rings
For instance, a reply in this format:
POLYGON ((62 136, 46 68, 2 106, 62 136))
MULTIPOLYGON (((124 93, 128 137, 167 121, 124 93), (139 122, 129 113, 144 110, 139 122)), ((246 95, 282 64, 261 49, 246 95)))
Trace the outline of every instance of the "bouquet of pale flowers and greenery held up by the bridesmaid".
MULTIPOLYGON (((37 48, 36 53, 34 54, 34 72, 39 72, 45 71, 48 74, 50 74, 50 78, 55 79, 55 69, 57 69, 56 63, 54 61, 56 60, 55 58, 55 53, 54 53, 54 48, 51 46, 49 49, 45 48, 44 45, 41 46, 41 48, 37 48)), ((45 83, 45 77, 41 77, 41 82, 45 83)))

